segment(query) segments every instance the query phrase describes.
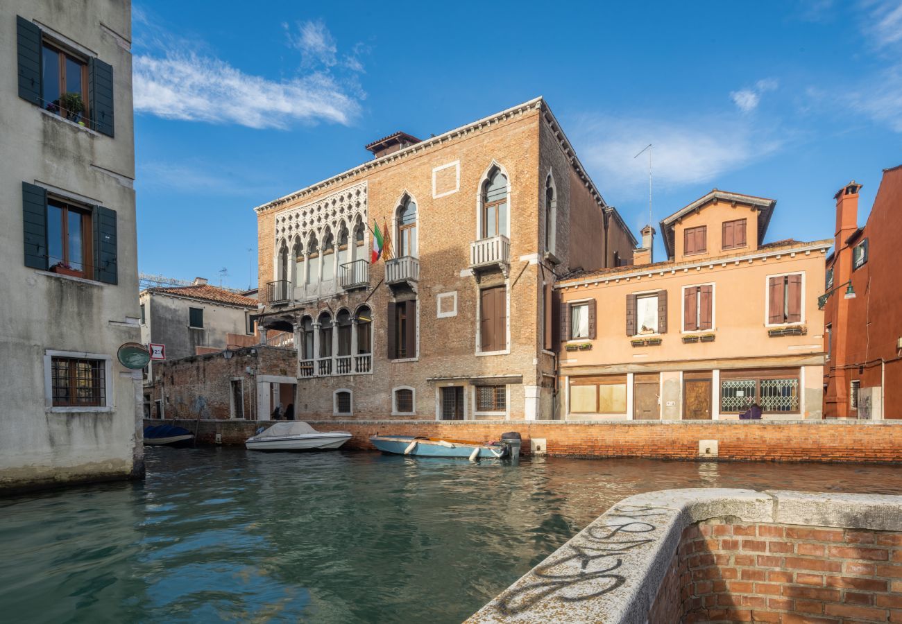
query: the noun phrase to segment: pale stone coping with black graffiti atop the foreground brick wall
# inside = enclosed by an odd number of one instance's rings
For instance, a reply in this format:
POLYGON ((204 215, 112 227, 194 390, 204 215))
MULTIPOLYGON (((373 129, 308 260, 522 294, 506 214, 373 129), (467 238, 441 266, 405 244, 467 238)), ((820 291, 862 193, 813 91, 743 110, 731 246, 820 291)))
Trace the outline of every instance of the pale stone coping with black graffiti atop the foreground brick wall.
POLYGON ((619 622, 649 619, 683 530, 712 518, 902 530, 902 496, 685 489, 630 496, 467 619, 619 622))

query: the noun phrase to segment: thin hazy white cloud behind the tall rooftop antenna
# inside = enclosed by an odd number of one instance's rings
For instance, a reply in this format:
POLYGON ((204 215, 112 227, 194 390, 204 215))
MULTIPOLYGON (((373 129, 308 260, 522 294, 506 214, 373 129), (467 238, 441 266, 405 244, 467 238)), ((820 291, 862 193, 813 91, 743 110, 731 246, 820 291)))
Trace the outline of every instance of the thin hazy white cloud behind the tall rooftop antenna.
POLYGON ((742 119, 696 117, 685 123, 624 117, 594 117, 577 124, 586 166, 601 188, 639 197, 649 183, 643 146, 652 143, 655 188, 679 188, 717 179, 778 150, 781 142, 742 119))

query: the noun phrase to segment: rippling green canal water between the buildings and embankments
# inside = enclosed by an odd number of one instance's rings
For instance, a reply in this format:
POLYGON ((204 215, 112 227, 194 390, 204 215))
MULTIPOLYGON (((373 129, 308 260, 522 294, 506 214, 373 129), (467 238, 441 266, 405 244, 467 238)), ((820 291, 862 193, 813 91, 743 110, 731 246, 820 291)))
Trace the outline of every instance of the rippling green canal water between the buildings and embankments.
POLYGON ((459 622, 640 491, 902 491, 893 466, 149 448, 147 480, 0 499, 9 622, 459 622))

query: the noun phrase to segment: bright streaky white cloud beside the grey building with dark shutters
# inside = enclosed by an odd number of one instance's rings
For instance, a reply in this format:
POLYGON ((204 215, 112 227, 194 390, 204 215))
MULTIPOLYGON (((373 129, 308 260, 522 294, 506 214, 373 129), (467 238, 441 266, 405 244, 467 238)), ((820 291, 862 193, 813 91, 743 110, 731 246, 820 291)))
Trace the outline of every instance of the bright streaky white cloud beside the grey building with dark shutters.
POLYGON ((320 120, 347 124, 359 108, 327 74, 274 81, 194 53, 136 56, 133 90, 136 113, 251 128, 320 120))

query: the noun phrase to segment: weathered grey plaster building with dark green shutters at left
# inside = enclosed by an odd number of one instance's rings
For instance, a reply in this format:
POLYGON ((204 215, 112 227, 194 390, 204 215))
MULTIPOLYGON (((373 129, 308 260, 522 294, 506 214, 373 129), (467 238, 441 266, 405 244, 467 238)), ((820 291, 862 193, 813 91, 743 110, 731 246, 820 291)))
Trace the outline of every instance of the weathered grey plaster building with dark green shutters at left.
POLYGON ((0 5, 0 489, 143 474, 129 2, 0 5))

